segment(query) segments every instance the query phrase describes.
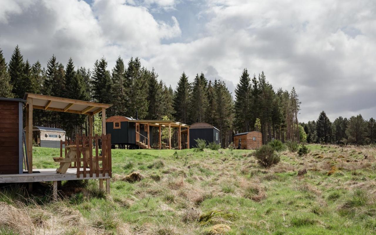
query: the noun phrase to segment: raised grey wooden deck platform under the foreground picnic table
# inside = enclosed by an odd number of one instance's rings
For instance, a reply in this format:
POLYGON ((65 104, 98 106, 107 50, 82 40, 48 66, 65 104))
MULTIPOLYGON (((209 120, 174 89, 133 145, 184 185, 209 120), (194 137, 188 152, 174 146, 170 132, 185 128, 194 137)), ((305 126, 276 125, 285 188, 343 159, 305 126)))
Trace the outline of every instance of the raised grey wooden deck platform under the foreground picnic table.
MULTIPOLYGON (((83 168, 80 168, 82 171, 83 168)), ((25 182, 42 182, 42 181, 61 181, 61 180, 82 180, 82 179, 109 179, 111 178, 108 173, 96 175, 94 172, 92 177, 86 174, 80 174, 77 177, 76 168, 68 168, 64 174, 56 173, 56 168, 53 169, 33 169, 33 171, 40 171, 40 173, 24 173, 24 174, 0 174, 0 183, 25 183, 25 182)))

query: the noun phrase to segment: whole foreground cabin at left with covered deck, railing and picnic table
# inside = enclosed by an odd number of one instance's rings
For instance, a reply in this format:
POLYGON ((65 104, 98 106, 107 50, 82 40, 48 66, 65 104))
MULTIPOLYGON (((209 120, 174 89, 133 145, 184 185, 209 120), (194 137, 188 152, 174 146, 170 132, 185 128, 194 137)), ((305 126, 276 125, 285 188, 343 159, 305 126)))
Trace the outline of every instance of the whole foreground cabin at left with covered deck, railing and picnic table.
POLYGON ((58 184, 62 180, 99 179, 100 188, 103 188, 103 180, 106 180, 106 190, 109 192, 112 175, 111 136, 106 135, 105 120, 106 109, 111 106, 31 93, 26 93, 23 100, 0 98, 0 183, 29 183, 29 191, 32 191, 33 182, 52 181, 53 197, 56 199, 58 184), (26 103, 24 141, 23 103, 26 103), (50 161, 58 163, 58 169, 33 168, 33 109, 88 116, 88 136, 76 135, 74 141, 60 140, 60 156, 50 158, 50 161), (102 135, 93 136, 93 115, 99 112, 102 112, 102 135), (98 149, 99 143, 102 149, 98 149))

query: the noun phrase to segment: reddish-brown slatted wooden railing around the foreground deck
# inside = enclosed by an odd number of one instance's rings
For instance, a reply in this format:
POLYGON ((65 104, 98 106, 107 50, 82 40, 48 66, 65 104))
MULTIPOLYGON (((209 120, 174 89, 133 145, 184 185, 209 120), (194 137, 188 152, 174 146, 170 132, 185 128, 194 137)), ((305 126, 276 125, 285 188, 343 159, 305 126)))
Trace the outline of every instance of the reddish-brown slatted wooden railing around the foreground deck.
MULTIPOLYGON (((111 162, 111 134, 95 135, 95 136, 79 136, 76 135, 74 140, 66 139, 65 142, 60 141, 60 157, 62 158, 63 143, 65 146, 76 147, 76 161, 71 168, 77 169, 77 178, 80 174, 83 177, 93 176, 93 173, 98 177, 100 174, 105 176, 106 173, 112 176, 112 162, 111 162), (101 147, 101 151, 99 149, 101 147), (94 154, 93 154, 93 150, 94 154), (81 157, 82 156, 82 157, 81 157), (82 170, 80 169, 82 168, 82 170)), ((65 157, 67 157, 67 148, 65 148, 65 157)))

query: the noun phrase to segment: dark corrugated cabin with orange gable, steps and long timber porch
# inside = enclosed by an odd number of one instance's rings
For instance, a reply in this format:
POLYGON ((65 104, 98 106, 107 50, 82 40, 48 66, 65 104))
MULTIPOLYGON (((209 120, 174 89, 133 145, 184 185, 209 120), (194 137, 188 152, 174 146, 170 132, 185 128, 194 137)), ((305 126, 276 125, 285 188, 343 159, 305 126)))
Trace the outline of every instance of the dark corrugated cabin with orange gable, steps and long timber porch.
POLYGON ((124 116, 106 119, 106 130, 111 134, 111 147, 121 149, 176 149, 189 148, 190 126, 172 120, 137 120, 124 116), (167 143, 162 143, 162 128, 168 128, 167 143), (176 135, 171 132, 175 128, 176 135), (171 138, 176 137, 176 141, 171 138), (174 147, 175 148, 175 147, 174 147))

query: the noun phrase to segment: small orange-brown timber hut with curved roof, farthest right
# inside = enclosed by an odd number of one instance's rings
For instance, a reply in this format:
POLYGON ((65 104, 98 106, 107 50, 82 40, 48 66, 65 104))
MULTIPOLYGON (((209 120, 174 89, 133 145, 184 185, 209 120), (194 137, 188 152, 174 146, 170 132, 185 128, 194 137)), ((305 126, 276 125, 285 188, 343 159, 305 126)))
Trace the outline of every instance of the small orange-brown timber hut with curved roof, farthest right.
POLYGON ((250 131, 234 135, 233 143, 239 149, 258 149, 262 146, 262 134, 258 131, 250 131))

